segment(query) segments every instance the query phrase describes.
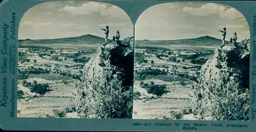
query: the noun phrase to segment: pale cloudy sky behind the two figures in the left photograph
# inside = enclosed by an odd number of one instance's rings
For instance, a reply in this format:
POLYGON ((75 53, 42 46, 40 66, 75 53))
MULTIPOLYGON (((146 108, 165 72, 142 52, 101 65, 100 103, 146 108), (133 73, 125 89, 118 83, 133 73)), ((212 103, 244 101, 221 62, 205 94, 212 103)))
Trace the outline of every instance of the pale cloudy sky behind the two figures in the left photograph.
POLYGON ((104 37, 106 25, 109 38, 117 30, 120 39, 134 34, 130 17, 119 7, 98 2, 50 2, 34 6, 23 16, 18 39, 54 39, 95 35, 104 37))

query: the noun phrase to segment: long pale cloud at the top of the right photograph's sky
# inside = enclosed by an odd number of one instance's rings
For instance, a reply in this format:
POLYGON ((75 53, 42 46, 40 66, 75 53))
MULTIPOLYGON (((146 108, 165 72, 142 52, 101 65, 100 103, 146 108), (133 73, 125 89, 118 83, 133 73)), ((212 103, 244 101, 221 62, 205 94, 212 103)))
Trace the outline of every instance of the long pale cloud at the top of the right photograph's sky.
POLYGON ((209 15, 219 15, 221 18, 226 19, 240 19, 243 15, 234 8, 226 9, 225 6, 221 6, 214 3, 209 3, 202 5, 199 8, 184 7, 182 9, 184 13, 188 13, 193 16, 209 16, 209 15))

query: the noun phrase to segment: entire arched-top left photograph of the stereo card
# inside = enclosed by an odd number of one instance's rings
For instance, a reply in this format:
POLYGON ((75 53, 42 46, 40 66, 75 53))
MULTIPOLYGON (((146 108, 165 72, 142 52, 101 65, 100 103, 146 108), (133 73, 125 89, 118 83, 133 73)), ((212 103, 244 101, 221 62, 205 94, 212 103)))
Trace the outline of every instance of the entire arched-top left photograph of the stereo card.
POLYGON ((39 4, 18 39, 17 117, 132 119, 134 26, 122 9, 39 4))

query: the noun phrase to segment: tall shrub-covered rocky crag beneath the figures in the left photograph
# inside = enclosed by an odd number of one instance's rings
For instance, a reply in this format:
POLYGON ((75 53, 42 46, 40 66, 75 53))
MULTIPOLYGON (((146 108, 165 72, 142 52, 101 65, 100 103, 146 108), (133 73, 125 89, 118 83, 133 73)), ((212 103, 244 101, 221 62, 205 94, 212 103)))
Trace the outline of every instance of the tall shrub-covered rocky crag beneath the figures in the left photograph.
POLYGON ((76 111, 81 118, 132 118, 134 38, 97 50, 77 84, 76 111))

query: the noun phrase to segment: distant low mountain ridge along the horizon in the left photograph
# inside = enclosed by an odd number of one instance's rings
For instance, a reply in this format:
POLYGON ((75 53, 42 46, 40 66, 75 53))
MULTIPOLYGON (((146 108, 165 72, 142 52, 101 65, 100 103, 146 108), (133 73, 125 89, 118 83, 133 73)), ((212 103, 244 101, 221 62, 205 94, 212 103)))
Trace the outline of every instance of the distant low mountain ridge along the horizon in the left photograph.
POLYGON ((60 44, 102 44, 105 42, 104 38, 94 36, 94 35, 83 35, 79 37, 69 37, 69 38, 58 38, 58 39, 24 39, 18 40, 20 44, 53 44, 53 43, 60 43, 60 44))

